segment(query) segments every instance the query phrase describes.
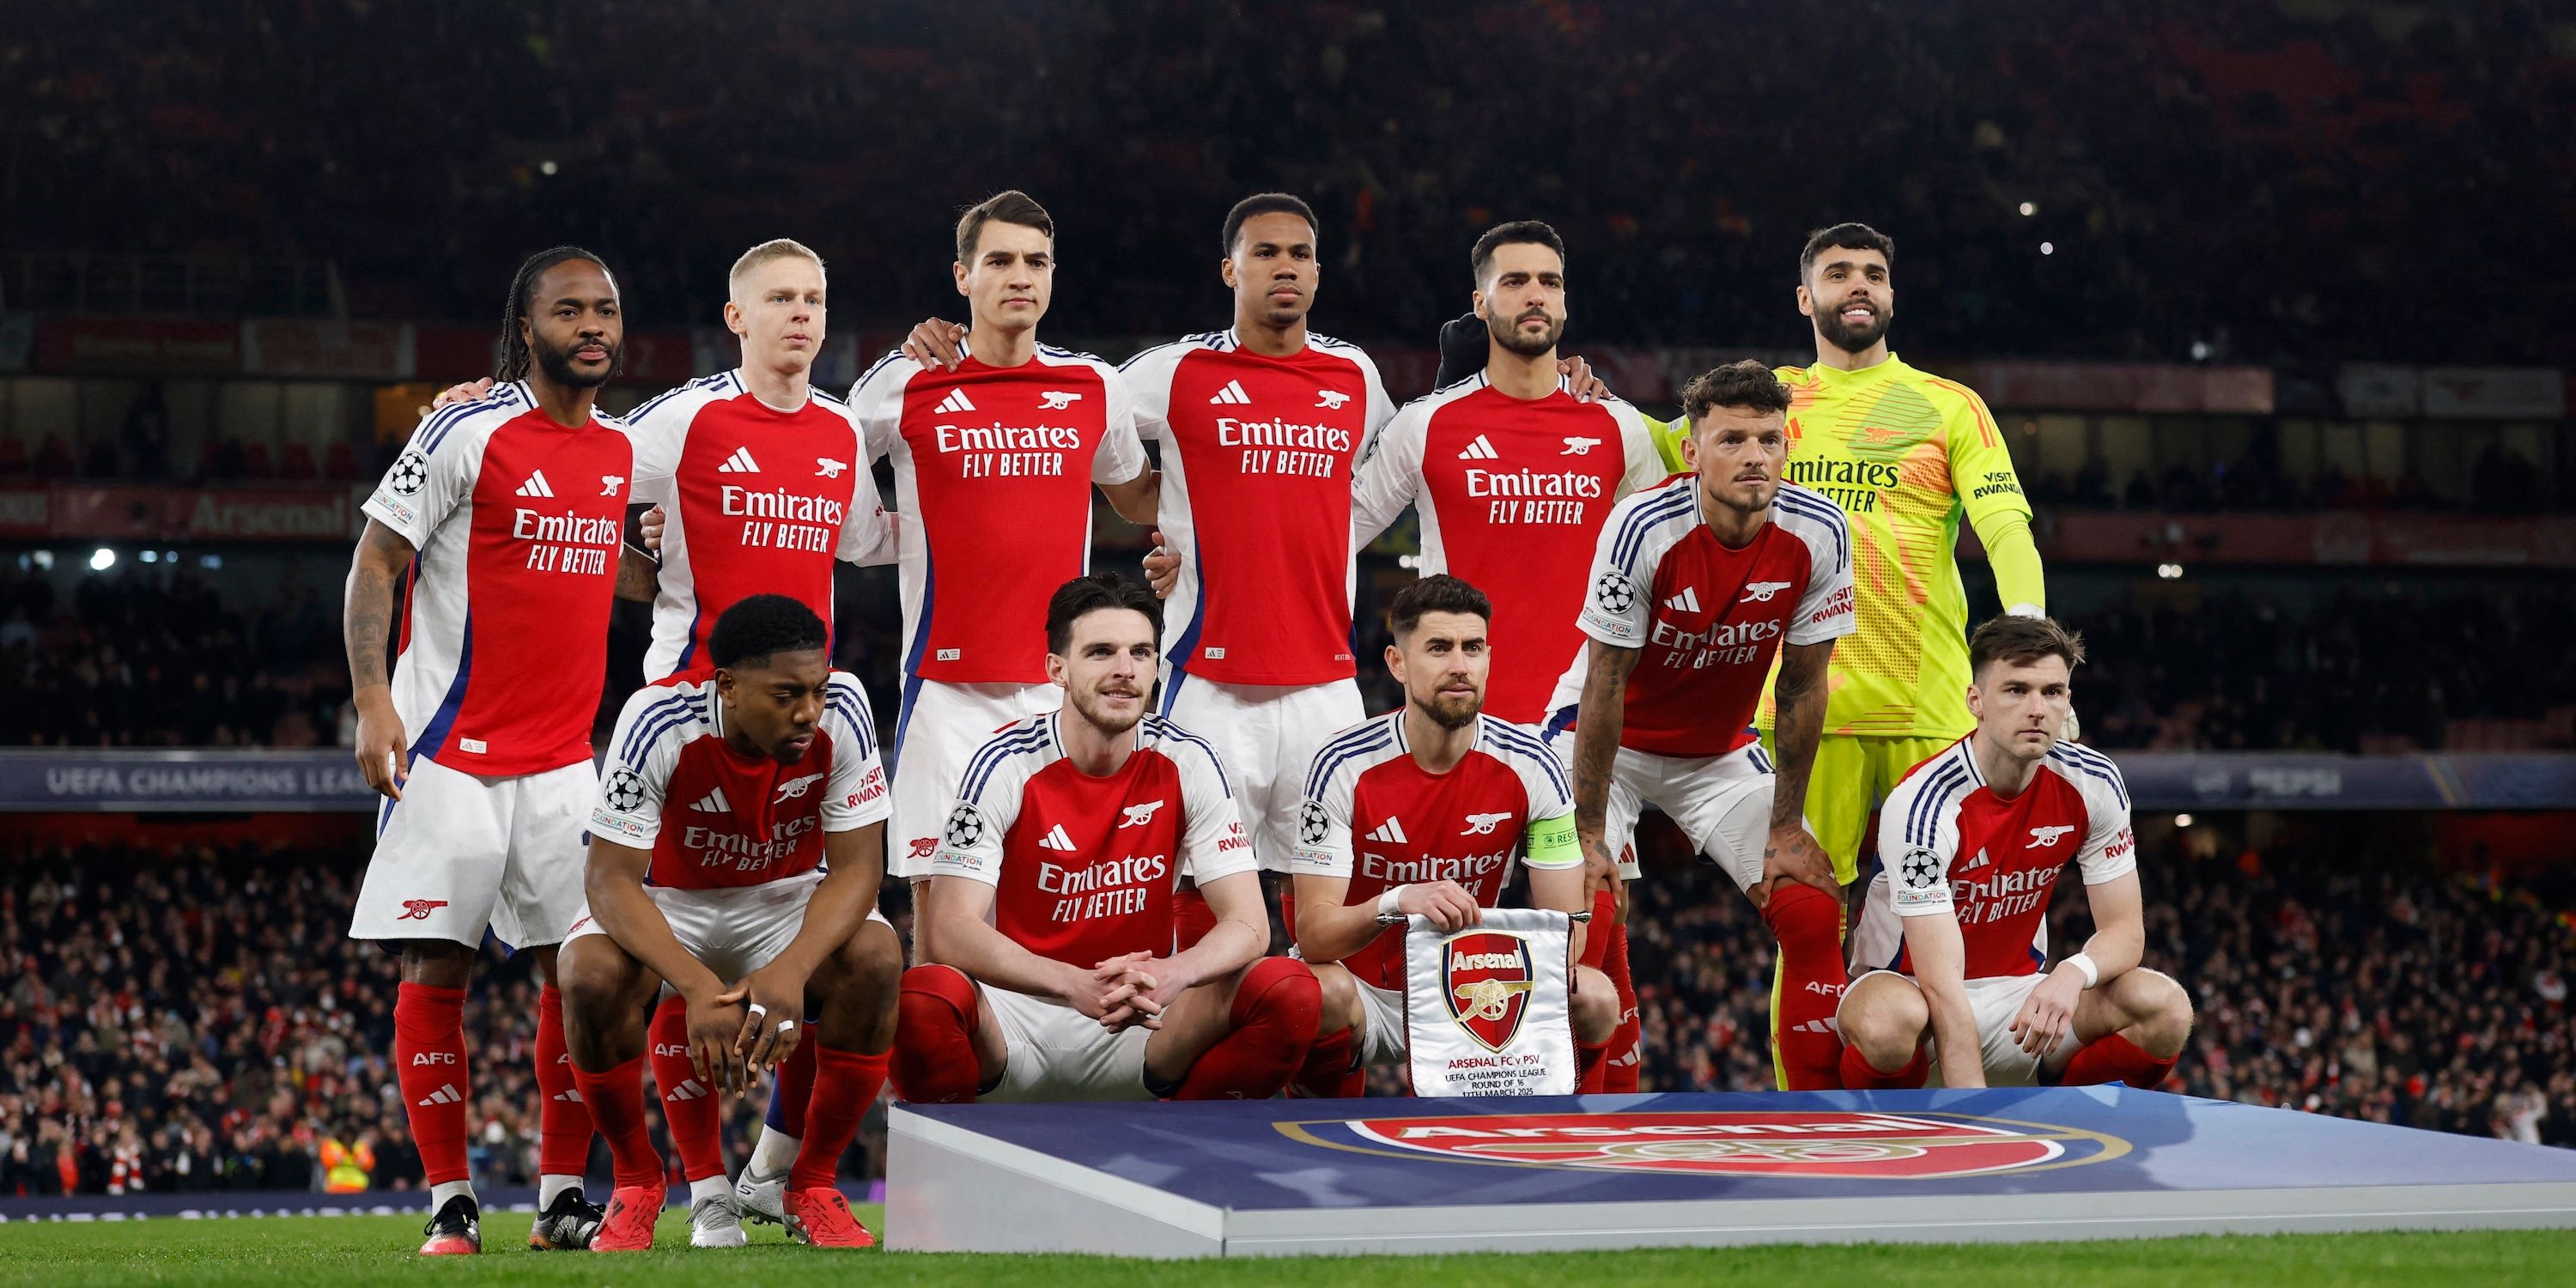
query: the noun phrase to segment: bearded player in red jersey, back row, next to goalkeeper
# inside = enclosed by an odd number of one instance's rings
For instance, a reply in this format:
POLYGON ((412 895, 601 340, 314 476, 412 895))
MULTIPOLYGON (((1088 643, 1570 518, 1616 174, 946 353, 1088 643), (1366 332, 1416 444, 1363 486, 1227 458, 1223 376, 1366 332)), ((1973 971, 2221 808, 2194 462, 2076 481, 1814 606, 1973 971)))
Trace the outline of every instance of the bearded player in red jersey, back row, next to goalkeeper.
POLYGON ((1422 574, 1494 595, 1486 706, 1515 724, 1548 714, 1548 688, 1582 649, 1574 608, 1610 505, 1664 477, 1646 422, 1615 397, 1579 402, 1556 368, 1566 332, 1566 242, 1535 219, 1476 237, 1486 366, 1406 402, 1360 466, 1352 546, 1406 505, 1422 513, 1422 574))

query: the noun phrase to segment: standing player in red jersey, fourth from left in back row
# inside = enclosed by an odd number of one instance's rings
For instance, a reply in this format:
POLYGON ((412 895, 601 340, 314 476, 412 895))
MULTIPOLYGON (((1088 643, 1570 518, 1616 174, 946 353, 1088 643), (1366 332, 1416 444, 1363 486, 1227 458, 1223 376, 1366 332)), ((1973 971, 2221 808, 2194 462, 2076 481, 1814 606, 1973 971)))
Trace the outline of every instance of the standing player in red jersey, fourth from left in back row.
MULTIPOLYGON (((1285 871, 1296 791, 1327 734, 1360 719, 1350 657, 1352 464, 1394 415, 1378 363, 1306 330, 1321 283, 1314 209, 1288 193, 1226 211, 1218 281, 1234 330, 1128 358, 1136 433, 1162 443, 1157 546, 1170 587, 1162 716, 1203 729, 1231 775, 1252 853, 1285 871)), ((953 363, 963 330, 922 322, 914 350, 953 363)), ((1206 902, 1182 894, 1206 930, 1206 902)), ((1188 930, 1185 930, 1188 935, 1188 930)))

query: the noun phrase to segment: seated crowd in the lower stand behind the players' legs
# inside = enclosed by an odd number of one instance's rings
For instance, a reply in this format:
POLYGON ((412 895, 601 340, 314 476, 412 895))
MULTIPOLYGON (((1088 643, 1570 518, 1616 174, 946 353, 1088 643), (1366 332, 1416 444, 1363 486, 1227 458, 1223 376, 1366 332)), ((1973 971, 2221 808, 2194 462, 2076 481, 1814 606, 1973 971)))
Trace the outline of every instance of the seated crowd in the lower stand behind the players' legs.
MULTIPOLYGON (((2174 1090, 2576 1144, 2571 930, 2537 902, 2295 845, 2143 873, 2146 961, 2200 1002, 2174 1090)), ((417 1185, 386 1066, 397 963, 345 938, 353 884, 322 850, 0 855, 0 1195, 304 1190, 330 1144, 366 1146, 376 1190, 417 1185)), ((1767 1087, 1752 907, 1698 866, 1633 891, 1643 1084, 1767 1087)), ((2061 943, 2079 909, 2061 899, 2061 943)), ((482 971, 474 1172, 531 1185, 536 989, 523 961, 482 971)), ((737 1167, 760 1108, 732 1103, 737 1167)), ((881 1149, 871 1123, 845 1170, 881 1149)))

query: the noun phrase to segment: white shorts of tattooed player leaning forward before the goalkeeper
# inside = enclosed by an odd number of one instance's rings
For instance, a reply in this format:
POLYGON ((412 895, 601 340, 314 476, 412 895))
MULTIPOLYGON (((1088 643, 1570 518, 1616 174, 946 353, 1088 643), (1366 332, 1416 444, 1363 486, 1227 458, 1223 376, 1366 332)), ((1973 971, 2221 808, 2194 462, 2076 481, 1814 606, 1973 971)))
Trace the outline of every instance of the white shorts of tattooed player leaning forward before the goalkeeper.
MULTIPOLYGON (((1556 760, 1574 765, 1574 729, 1548 739, 1556 760)), ((1762 884, 1762 845, 1770 840, 1772 768, 1759 742, 1726 755, 1654 755, 1620 747, 1610 762, 1610 809, 1602 819, 1602 845, 1620 855, 1620 876, 1638 878, 1636 819, 1643 806, 1662 809, 1690 845, 1736 881, 1736 889, 1762 884)))

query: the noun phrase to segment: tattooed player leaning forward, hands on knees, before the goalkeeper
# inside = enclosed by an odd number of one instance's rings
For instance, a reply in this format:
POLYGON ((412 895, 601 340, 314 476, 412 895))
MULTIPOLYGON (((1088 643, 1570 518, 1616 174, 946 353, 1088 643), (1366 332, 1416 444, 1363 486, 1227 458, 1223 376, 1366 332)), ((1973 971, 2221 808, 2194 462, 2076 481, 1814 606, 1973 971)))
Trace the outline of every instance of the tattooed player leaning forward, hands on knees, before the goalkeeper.
POLYGON ((1803 824, 1834 639, 1852 634, 1852 533, 1780 482, 1788 389, 1754 361, 1682 389, 1698 474, 1628 497, 1582 605, 1589 649, 1556 685, 1574 824, 1607 876, 1654 804, 1734 876, 1780 940, 1772 1048, 1790 1090, 1834 1087, 1842 889, 1803 824), (1780 762, 1754 742, 1780 662, 1780 762), (1571 734, 1566 732, 1571 716, 1571 734))

